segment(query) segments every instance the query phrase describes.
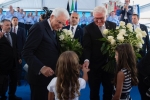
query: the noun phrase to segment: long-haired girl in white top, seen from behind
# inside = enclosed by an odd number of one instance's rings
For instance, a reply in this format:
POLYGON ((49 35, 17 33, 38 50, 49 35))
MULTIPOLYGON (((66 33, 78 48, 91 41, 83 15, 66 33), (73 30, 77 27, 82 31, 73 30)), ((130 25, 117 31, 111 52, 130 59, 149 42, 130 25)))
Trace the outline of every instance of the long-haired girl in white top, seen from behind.
MULTIPOLYGON (((83 68, 83 78, 87 80, 89 69, 83 68)), ((53 100, 78 100, 80 90, 85 88, 86 81, 79 78, 79 58, 73 51, 66 51, 60 55, 56 65, 56 76, 51 80, 47 89, 48 99, 53 100)))

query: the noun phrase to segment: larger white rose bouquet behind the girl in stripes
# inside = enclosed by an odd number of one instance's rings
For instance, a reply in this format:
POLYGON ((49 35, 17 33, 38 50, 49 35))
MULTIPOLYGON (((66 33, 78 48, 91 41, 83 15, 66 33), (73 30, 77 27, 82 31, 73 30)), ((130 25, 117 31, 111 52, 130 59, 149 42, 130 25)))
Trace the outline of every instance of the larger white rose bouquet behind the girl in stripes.
POLYGON ((102 34, 105 37, 100 39, 100 41, 104 41, 101 52, 109 55, 109 62, 103 67, 106 71, 115 69, 115 66, 112 66, 112 64, 115 62, 115 48, 119 44, 130 43, 134 48, 137 59, 141 57, 139 50, 142 49, 142 45, 144 44, 143 38, 145 38, 147 34, 140 28, 136 28, 133 31, 132 24, 128 23, 125 25, 125 23, 121 21, 120 26, 116 27, 115 30, 105 29, 102 34))

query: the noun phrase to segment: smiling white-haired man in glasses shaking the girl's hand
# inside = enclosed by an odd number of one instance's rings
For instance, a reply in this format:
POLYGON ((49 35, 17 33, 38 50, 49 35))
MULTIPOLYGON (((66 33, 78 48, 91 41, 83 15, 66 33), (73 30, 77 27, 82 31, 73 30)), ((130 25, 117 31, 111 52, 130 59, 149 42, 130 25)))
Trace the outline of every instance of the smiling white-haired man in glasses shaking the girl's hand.
POLYGON ((102 83, 104 87, 103 100, 111 100, 113 93, 113 85, 111 83, 113 74, 105 72, 103 66, 107 63, 108 56, 103 55, 100 48, 103 44, 98 39, 103 38, 102 31, 104 29, 115 29, 116 24, 106 21, 106 8, 97 6, 93 10, 94 22, 87 25, 84 29, 83 37, 83 67, 89 67, 88 73, 90 100, 100 100, 99 89, 102 83))

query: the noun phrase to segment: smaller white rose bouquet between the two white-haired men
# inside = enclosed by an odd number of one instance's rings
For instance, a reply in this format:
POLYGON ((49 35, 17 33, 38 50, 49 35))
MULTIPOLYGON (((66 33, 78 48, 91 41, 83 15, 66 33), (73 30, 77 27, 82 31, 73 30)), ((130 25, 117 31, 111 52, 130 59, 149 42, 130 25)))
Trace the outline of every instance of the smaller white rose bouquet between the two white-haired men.
POLYGON ((78 39, 73 38, 72 31, 63 29, 57 32, 57 35, 59 37, 61 52, 71 50, 76 52, 79 57, 82 55, 82 46, 78 42, 78 39))

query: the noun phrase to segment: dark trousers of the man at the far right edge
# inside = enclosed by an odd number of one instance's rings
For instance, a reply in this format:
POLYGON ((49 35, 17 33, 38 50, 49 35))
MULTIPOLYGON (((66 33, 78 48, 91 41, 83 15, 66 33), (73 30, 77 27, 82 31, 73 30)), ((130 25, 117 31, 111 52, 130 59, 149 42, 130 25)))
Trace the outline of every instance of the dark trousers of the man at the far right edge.
POLYGON ((141 95, 141 100, 150 100, 150 98, 146 96, 146 92, 150 87, 144 83, 144 78, 145 76, 143 76, 140 73, 138 74, 139 79, 138 89, 141 95))

